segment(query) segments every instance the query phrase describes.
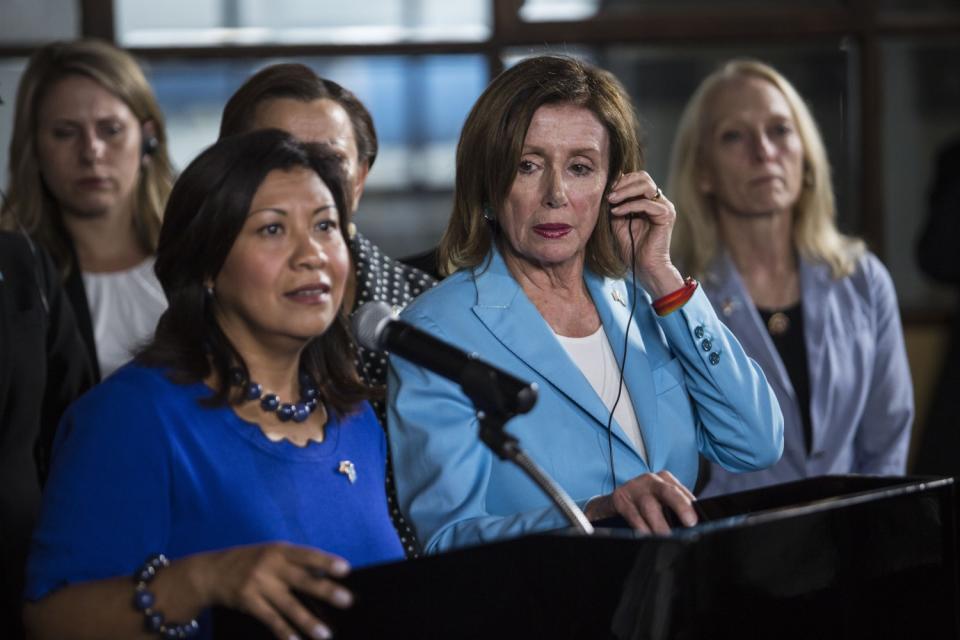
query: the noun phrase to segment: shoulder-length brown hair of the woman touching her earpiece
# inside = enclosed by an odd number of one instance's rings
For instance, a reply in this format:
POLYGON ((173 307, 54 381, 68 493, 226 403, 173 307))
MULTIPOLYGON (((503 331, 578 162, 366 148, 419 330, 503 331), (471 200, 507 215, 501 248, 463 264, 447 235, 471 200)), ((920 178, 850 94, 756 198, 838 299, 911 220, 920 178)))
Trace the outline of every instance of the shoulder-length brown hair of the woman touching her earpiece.
POLYGON ((564 103, 592 111, 610 136, 610 173, 599 220, 587 241, 586 266, 604 276, 625 273, 606 193, 621 174, 643 167, 636 114, 613 74, 566 56, 523 60, 494 78, 470 110, 457 145, 453 212, 440 241, 442 273, 476 267, 490 253, 496 233, 484 209, 502 208, 537 109, 564 103))

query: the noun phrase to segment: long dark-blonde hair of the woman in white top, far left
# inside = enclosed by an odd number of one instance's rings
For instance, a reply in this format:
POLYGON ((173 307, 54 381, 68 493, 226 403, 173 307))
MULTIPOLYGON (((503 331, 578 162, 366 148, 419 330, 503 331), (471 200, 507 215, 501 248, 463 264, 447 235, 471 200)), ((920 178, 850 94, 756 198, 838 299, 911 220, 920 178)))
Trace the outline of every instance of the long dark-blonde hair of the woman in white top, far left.
POLYGON ((61 272, 70 265, 70 239, 60 207, 43 184, 37 156, 37 113, 50 88, 63 78, 84 76, 122 100, 141 125, 152 122, 157 140, 141 163, 134 200, 134 228, 142 248, 157 248, 163 208, 173 185, 163 114, 143 71, 130 54, 99 40, 54 42, 30 58, 20 86, 10 141, 9 194, 0 211, 4 228, 20 227, 50 252, 61 272))

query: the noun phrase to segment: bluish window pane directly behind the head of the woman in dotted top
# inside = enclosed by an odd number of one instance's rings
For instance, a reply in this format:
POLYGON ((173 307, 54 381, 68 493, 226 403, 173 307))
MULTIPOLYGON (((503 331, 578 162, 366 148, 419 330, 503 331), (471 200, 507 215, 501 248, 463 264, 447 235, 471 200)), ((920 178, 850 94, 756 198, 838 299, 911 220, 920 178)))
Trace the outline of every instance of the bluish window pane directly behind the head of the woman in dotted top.
MULTIPOLYGON (((446 228, 460 128, 487 83, 482 56, 338 57, 298 60, 364 102, 380 152, 357 224, 387 254, 432 246, 446 228)), ((279 60, 154 62, 146 65, 167 119, 179 167, 216 140, 230 95, 279 60)))

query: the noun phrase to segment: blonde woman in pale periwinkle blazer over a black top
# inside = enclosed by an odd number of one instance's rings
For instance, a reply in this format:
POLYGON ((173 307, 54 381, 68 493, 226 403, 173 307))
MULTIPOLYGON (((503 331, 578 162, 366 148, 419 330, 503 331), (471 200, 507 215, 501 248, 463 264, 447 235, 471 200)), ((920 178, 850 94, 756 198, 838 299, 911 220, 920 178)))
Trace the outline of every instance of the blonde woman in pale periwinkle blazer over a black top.
POLYGON ((785 419, 780 462, 713 465, 702 495, 823 474, 902 474, 913 387, 890 275, 835 226, 816 124, 768 65, 730 62, 691 98, 670 192, 678 263, 763 367, 785 419))

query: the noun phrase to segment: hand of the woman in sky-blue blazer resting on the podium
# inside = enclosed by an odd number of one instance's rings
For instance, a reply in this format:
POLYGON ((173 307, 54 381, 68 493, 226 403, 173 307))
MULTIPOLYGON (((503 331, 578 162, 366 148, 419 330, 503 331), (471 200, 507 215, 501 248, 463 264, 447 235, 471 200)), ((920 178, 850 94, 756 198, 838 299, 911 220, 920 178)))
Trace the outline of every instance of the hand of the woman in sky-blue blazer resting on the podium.
POLYGON ((693 493, 669 471, 645 473, 625 482, 613 493, 594 498, 584 512, 591 522, 620 516, 641 533, 670 533, 673 514, 687 527, 697 524, 693 493))

